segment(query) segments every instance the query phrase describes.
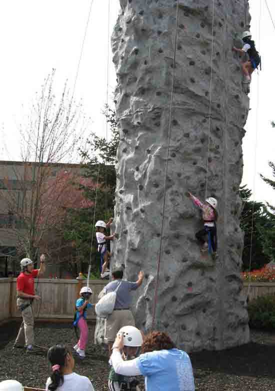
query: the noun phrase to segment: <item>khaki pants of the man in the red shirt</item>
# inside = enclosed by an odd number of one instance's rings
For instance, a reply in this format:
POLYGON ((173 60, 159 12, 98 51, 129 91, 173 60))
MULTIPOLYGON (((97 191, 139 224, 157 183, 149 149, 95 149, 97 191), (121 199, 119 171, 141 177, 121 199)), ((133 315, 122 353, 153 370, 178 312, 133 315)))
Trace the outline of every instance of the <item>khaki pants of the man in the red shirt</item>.
MULTIPOLYGON (((30 300, 17 298, 16 305, 17 308, 21 305, 29 304, 30 300)), ((33 333, 33 325, 34 318, 32 314, 32 307, 28 306, 23 311, 21 311, 23 322, 21 323, 19 332, 17 334, 17 338, 15 340, 15 345, 23 346, 23 345, 33 345, 34 343, 34 333, 33 333)))

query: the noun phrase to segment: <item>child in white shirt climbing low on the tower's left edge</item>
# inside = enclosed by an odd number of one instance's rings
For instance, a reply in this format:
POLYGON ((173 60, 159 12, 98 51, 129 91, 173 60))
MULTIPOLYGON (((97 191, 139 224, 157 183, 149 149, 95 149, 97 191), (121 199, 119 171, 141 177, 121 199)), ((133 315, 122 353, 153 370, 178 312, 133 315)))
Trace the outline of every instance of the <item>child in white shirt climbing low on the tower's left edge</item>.
POLYGON ((106 240, 113 240, 115 238, 115 234, 106 236, 105 229, 108 228, 112 223, 112 218, 109 219, 107 223, 102 220, 98 220, 95 223, 96 228, 96 240, 97 240, 97 251, 100 255, 100 276, 102 279, 107 278, 109 276, 109 257, 110 252, 107 250, 106 240))

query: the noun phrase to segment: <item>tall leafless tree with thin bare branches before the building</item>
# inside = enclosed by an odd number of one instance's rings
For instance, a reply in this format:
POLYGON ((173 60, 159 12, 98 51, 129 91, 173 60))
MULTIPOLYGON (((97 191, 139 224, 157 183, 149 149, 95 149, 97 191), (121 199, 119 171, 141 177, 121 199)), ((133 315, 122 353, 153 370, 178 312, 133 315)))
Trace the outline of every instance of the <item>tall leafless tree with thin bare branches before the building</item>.
POLYGON ((0 174, 7 231, 18 253, 32 259, 37 258, 43 238, 62 223, 64 194, 79 176, 79 168, 69 163, 88 123, 67 83, 59 98, 54 94, 54 73, 53 69, 36 93, 26 124, 20 124, 21 161, 3 166, 0 174))

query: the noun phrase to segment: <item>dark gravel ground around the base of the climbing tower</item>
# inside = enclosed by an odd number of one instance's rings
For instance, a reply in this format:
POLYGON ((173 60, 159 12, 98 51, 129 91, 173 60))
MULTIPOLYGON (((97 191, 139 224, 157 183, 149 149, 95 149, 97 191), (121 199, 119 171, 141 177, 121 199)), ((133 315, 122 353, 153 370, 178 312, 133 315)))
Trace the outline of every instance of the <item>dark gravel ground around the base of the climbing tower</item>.
MULTIPOLYGON (((0 328, 0 381, 16 379, 24 386, 44 388, 50 367, 46 350, 36 348, 27 354, 22 349, 12 349, 18 322, 0 328)), ((90 335, 93 326, 89 326, 90 335)), ((190 354, 196 391, 275 391, 275 331, 251 332, 251 343, 222 352, 190 354)), ((92 340, 92 338, 91 338, 92 340)), ((36 324, 35 343, 50 347, 55 343, 75 344, 70 325, 36 324)), ((104 346, 94 346, 92 341, 84 361, 75 359, 75 372, 87 376, 95 391, 107 390, 108 356, 104 346)))

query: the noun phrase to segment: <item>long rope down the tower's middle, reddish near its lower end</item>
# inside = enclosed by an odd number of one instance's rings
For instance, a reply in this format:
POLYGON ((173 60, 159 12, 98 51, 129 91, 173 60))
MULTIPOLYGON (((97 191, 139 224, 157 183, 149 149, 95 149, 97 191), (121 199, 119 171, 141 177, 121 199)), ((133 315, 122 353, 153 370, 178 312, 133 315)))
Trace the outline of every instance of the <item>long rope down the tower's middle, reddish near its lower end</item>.
POLYGON ((163 235, 164 212, 165 212, 166 189, 167 189, 168 159, 169 159, 169 151, 170 151, 171 123, 172 123, 172 103, 173 103, 174 77, 175 77, 175 57, 176 57, 178 8, 179 8, 179 6, 178 6, 178 0, 177 0, 176 1, 176 16, 175 16, 175 37, 174 37, 174 48, 173 48, 172 86, 171 86, 170 106, 169 106, 167 156, 166 156, 166 166, 165 166, 165 181, 164 181, 164 195, 163 195, 163 206, 162 206, 162 216, 161 216, 160 241, 159 241, 158 259, 157 259, 157 273, 156 273, 155 292, 154 292, 154 305, 153 305, 153 312, 152 312, 152 330, 154 329, 154 325, 155 325, 155 311, 156 311, 157 290, 158 290, 158 283, 159 283, 159 267, 160 267, 160 259, 161 259, 162 235, 163 235))

